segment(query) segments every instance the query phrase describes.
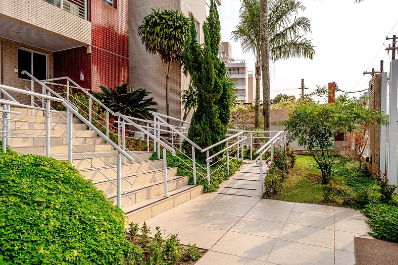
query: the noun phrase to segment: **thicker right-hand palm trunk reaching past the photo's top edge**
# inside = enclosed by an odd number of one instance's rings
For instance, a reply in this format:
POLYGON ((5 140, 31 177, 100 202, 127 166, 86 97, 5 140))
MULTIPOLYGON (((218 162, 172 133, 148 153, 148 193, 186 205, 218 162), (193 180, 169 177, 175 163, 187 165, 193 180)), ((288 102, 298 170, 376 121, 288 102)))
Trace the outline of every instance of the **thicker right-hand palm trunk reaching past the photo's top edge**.
POLYGON ((263 71, 263 116, 264 130, 271 129, 271 94, 270 94, 270 55, 268 28, 268 0, 261 0, 261 67, 263 71))

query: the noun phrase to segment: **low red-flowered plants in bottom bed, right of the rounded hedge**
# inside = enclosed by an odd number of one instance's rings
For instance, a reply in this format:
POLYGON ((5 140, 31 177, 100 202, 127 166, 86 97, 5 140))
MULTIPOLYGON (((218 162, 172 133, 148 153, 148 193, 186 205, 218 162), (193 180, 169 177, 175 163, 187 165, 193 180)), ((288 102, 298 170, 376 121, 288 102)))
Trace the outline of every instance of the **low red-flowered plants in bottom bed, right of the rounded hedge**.
POLYGON ((152 232, 145 222, 141 228, 138 223, 131 223, 126 235, 132 243, 126 265, 193 264, 206 252, 197 249, 195 244, 182 246, 177 234, 165 238, 158 226, 152 232))

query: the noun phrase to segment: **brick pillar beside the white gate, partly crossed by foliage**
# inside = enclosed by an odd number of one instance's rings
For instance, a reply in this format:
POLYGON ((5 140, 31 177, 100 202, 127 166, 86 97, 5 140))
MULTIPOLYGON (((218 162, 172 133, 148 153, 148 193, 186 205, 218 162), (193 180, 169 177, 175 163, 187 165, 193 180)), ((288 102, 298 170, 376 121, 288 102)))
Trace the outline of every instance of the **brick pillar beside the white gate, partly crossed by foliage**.
MULTIPOLYGON (((375 75, 369 82, 369 108, 381 110, 381 75, 375 75)), ((371 170, 380 169, 380 126, 370 125, 369 149, 371 170)))

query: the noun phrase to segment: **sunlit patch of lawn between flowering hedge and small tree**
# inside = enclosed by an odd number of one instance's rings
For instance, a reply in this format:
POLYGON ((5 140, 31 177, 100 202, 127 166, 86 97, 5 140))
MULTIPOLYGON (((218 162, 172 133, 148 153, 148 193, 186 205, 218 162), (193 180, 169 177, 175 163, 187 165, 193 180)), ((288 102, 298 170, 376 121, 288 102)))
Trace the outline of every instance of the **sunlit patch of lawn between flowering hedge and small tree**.
POLYGON ((274 198, 287 202, 325 204, 321 178, 321 170, 315 160, 310 156, 299 155, 294 168, 283 182, 280 194, 274 198))

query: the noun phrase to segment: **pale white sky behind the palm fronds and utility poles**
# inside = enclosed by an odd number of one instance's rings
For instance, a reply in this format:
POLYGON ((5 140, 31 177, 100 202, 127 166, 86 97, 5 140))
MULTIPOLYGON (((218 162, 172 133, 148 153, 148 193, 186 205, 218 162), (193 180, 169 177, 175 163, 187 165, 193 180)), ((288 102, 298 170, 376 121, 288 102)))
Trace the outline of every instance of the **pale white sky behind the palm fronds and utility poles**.
MULTIPOLYGON (((301 80, 305 80, 305 93, 317 86, 336 82, 344 91, 368 88, 370 75, 363 72, 379 70, 384 59, 388 72, 391 52, 385 46, 391 40, 386 36, 398 35, 398 1, 364 0, 302 0, 306 10, 297 16, 311 21, 312 33, 307 34, 315 46, 313 60, 290 58, 271 62, 271 98, 277 94, 301 95, 301 80)), ((245 59, 249 71, 254 71, 254 55, 243 53, 240 43, 231 39, 231 32, 239 22, 240 0, 222 0, 220 7, 222 41, 232 45, 232 57, 245 59)), ((362 93, 350 94, 359 96, 362 93)), ((338 95, 338 94, 337 94, 338 95)))

